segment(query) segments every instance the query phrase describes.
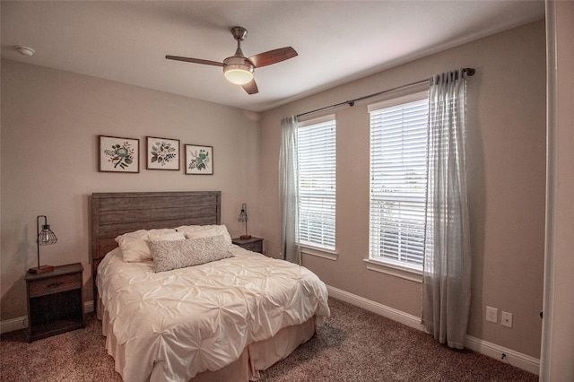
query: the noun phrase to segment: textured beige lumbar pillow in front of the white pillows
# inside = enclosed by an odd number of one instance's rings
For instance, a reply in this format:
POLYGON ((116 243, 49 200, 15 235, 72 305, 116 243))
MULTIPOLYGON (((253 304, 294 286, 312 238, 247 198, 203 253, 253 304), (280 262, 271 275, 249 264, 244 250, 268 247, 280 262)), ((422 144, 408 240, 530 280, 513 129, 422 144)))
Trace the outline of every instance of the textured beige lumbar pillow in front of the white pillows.
POLYGON ((233 257, 223 235, 211 238, 152 241, 150 248, 156 273, 233 257))

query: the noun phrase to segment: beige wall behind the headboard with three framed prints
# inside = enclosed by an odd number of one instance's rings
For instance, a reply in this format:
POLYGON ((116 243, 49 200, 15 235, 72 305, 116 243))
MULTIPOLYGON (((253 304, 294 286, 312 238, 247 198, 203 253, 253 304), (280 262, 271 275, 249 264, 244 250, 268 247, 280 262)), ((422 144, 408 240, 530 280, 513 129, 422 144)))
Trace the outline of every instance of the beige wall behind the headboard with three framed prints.
MULTIPOLYGON (((221 190, 222 222, 239 235, 241 203, 257 231, 257 115, 200 100, 13 61, 2 62, 0 319, 26 315, 24 274, 36 265, 36 216, 57 244, 42 264, 82 262, 91 300, 92 192, 221 190), (140 173, 98 171, 98 135, 140 139, 140 173), (214 175, 145 169, 145 136, 213 146, 214 175)), ((250 222, 251 222, 250 221, 250 222)))

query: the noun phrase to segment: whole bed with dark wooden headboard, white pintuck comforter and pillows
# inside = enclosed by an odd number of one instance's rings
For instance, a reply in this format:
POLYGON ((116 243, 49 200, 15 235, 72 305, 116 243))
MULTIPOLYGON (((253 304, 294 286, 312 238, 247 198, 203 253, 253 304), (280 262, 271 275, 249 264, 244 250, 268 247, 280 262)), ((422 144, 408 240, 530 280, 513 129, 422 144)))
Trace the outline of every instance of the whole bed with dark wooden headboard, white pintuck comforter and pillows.
POLYGON ((219 191, 94 193, 91 215, 96 310, 125 380, 257 380, 329 315, 317 275, 230 243, 219 191), (153 260, 127 246, 140 238, 153 260), (191 252, 207 257, 187 266, 191 252))

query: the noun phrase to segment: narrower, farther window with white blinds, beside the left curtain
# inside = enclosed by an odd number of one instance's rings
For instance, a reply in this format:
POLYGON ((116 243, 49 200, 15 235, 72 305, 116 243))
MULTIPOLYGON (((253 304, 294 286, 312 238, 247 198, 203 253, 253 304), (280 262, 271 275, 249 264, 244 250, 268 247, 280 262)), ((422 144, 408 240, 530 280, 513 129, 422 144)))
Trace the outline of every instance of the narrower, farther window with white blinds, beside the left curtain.
POLYGON ((335 116, 300 122, 299 234, 302 246, 335 250, 335 116))

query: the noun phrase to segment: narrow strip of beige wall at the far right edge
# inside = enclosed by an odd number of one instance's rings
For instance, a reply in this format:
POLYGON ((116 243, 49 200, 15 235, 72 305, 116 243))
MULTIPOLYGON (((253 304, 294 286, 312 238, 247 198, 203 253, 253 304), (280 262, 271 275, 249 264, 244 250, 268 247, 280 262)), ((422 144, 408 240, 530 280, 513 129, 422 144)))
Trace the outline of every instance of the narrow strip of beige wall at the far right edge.
POLYGON ((574 3, 546 2, 548 205, 540 379, 574 380, 574 3))

